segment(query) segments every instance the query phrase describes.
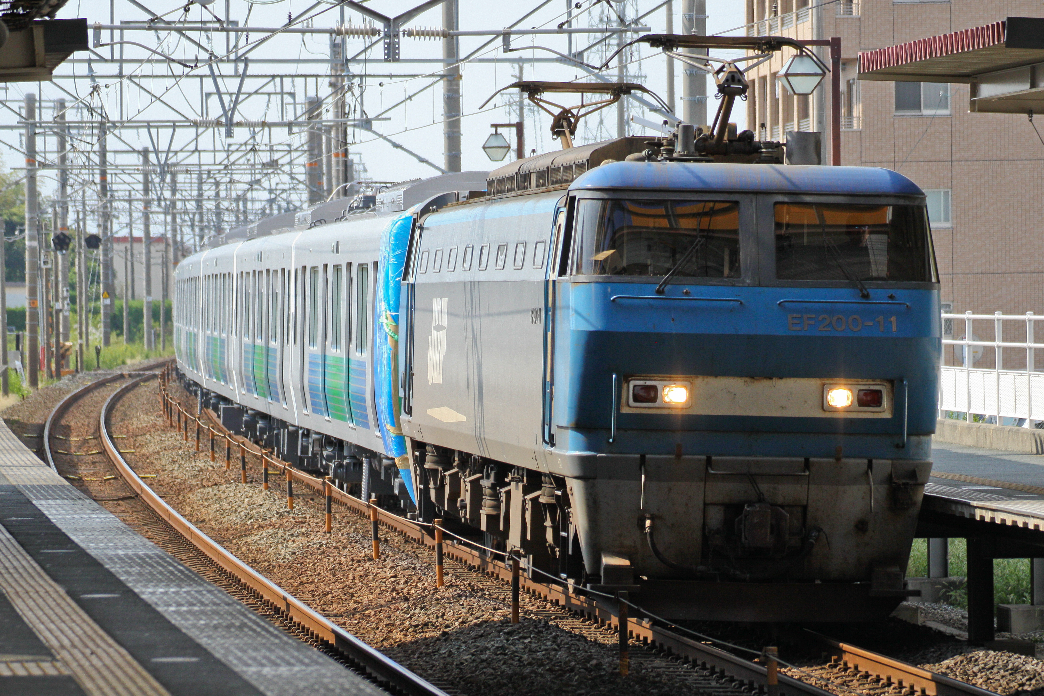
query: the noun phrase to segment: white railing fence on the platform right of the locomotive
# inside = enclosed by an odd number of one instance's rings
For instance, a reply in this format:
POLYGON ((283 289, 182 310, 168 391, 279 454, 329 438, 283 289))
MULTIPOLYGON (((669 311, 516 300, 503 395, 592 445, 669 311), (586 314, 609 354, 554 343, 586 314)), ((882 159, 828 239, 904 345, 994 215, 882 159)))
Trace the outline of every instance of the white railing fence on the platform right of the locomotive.
POLYGON ((1044 421, 1044 371, 1037 371, 1034 364, 1035 351, 1044 350, 1044 343, 1034 342, 1037 321, 1044 321, 1044 315, 943 314, 939 408, 964 411, 969 421, 974 413, 993 415, 998 424, 1001 417, 1025 418, 1027 426, 1044 421), (1023 334, 1021 341, 1004 340, 1004 325, 1011 334, 1013 321, 1024 326, 1024 331, 1018 332, 1023 334), (989 328, 993 340, 978 339, 976 327, 986 333, 983 322, 993 325, 989 328), (960 337, 954 339, 955 335, 960 337), (951 358, 960 364, 946 364, 947 346, 953 346, 951 358), (991 354, 992 367, 976 366, 977 362, 989 363, 991 354), (1018 364, 1005 368, 1005 356, 1010 363, 1018 364))

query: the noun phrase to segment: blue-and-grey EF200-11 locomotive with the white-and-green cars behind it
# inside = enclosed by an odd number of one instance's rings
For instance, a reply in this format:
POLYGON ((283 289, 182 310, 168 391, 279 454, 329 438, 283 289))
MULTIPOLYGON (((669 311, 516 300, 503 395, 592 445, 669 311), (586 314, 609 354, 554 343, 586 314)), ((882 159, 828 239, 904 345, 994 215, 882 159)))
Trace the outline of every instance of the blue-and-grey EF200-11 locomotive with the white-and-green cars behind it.
POLYGON ((186 260, 181 369, 296 465, 532 573, 673 618, 886 615, 935 423, 923 192, 616 161, 636 141, 186 260))

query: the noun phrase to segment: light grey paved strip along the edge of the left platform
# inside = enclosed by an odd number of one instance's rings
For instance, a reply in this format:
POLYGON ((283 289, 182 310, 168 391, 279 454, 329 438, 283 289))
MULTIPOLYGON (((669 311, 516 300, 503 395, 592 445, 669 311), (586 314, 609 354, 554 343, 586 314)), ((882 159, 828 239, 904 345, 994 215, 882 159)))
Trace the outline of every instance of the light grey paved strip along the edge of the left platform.
POLYGON ((132 530, 33 456, 2 421, 0 477, 17 485, 135 594, 266 696, 386 693, 279 630, 132 530))

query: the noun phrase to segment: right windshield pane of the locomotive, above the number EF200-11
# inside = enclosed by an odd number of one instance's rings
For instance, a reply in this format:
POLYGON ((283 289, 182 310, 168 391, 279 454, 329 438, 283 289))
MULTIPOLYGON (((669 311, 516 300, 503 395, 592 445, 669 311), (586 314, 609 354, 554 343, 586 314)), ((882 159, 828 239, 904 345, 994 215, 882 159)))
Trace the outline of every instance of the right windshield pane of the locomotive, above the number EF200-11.
POLYGON ((776 203, 776 277, 933 283, 923 206, 776 203))

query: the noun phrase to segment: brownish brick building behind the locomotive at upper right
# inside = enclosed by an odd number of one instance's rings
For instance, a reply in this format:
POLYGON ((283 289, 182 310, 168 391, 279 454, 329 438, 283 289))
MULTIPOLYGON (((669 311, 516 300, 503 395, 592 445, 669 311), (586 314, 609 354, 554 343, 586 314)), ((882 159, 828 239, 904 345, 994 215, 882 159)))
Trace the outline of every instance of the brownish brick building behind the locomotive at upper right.
MULTIPOLYGON (((1007 17, 1041 17, 1044 6, 1027 0, 815 4, 746 0, 748 33, 841 38, 841 164, 897 170, 928 194, 944 308, 1044 314, 1044 144, 1026 117, 968 113, 968 85, 858 80, 860 50, 1007 17)), ((774 140, 787 130, 818 130, 824 162, 830 162, 830 78, 810 97, 788 94, 776 73, 790 55, 785 50, 749 75, 749 127, 774 140)))

